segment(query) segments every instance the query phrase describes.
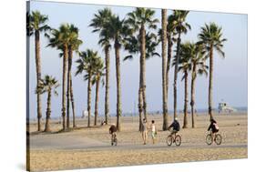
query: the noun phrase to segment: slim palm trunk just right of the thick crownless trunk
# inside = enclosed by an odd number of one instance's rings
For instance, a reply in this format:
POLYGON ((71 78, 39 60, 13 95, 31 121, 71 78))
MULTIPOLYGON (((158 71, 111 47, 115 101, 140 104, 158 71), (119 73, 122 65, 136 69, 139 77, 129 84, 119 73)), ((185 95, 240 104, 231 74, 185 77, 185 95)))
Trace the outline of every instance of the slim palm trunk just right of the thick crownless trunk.
POLYGON ((168 34, 168 59, 167 59, 167 69, 166 69, 166 99, 168 102, 169 97, 169 69, 170 69, 170 62, 171 62, 171 51, 172 51, 172 43, 171 43, 171 35, 168 34))

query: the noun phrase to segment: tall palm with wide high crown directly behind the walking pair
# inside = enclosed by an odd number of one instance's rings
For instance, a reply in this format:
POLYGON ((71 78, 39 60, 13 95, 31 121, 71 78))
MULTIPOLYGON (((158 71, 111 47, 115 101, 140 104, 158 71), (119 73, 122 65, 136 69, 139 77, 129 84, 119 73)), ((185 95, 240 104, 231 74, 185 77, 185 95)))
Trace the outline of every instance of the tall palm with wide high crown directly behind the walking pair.
POLYGON ((138 112, 141 113, 143 108, 144 117, 147 120, 147 101, 146 101, 146 29, 156 29, 159 20, 154 18, 155 11, 147 8, 136 8, 133 12, 128 13, 126 24, 132 30, 132 33, 138 33, 140 42, 140 73, 138 94, 138 112), (139 97, 142 97, 142 101, 139 97))

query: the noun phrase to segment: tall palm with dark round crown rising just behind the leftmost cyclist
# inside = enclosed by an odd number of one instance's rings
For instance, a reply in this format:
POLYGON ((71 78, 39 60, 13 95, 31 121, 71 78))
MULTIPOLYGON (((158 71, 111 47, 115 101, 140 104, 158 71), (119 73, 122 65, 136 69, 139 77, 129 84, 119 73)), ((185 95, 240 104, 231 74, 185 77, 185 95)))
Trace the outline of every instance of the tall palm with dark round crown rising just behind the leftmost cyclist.
POLYGON ((128 26, 125 25, 125 20, 119 16, 113 15, 110 17, 106 28, 109 32, 110 40, 114 42, 116 56, 116 78, 117 78, 117 128, 121 130, 120 117, 122 116, 121 105, 121 74, 120 74, 120 48, 124 44, 125 37, 129 35, 128 26))

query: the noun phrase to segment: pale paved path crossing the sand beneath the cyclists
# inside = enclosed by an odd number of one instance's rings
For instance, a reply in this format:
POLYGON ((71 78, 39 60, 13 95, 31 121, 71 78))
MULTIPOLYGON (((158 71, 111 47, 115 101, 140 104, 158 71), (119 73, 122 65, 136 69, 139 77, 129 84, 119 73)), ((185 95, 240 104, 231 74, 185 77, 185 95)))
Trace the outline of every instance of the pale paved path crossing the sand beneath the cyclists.
POLYGON ((118 146, 110 146, 109 143, 103 143, 95 139, 91 139, 88 137, 76 137, 76 136, 55 136, 55 135, 47 135, 47 136, 33 136, 30 137, 30 148, 32 149, 66 149, 66 150, 81 150, 85 149, 87 151, 100 151, 100 150, 128 150, 128 149, 162 149, 162 148, 214 148, 214 147, 247 147, 246 144, 230 144, 223 143, 220 146, 211 145, 208 146, 205 143, 182 143, 179 147, 171 146, 168 147, 165 143, 158 143, 156 145, 152 145, 149 143, 148 145, 132 145, 132 144, 118 144, 118 146))

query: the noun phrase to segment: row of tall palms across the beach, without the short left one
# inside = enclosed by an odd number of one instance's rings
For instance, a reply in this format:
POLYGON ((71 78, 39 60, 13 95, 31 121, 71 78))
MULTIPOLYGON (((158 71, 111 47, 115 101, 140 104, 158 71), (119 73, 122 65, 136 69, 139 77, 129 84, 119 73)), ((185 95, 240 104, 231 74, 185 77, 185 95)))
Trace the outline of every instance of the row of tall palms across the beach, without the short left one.
MULTIPOLYGON (((181 37, 191 29, 186 18, 189 11, 174 10, 171 15, 167 15, 167 10, 161 10, 161 28, 157 30, 159 19, 154 17, 155 11, 148 8, 135 8, 128 13, 126 18, 120 19, 118 15, 111 12, 109 8, 99 10, 90 22, 93 33, 98 34, 98 45, 102 46, 105 53, 105 62, 97 55, 97 51, 87 49, 79 52, 78 48, 82 41, 78 36, 78 28, 75 25, 63 24, 58 29, 50 29, 46 25, 47 16, 39 12, 32 12, 28 15, 28 34, 35 34, 36 39, 36 81, 37 88, 41 80, 40 66, 40 42, 39 35, 45 32, 49 38, 48 46, 56 47, 60 50, 60 56, 63 57, 63 78, 62 78, 62 117, 63 130, 70 127, 69 124, 69 106, 70 98, 73 109, 73 127, 76 127, 75 104, 72 87, 72 57, 77 52, 77 73, 84 74, 87 80, 87 112, 88 124, 90 126, 91 111, 91 86, 96 84, 96 105, 95 105, 95 125, 97 125, 97 102, 100 80, 104 77, 105 83, 105 122, 108 124, 109 116, 109 64, 111 47, 115 49, 116 60, 116 82, 117 82, 117 127, 121 130, 120 117, 122 115, 121 106, 121 75, 120 75, 120 50, 123 48, 128 51, 129 56, 124 60, 133 59, 134 55, 139 54, 139 83, 138 83, 138 114, 139 130, 141 129, 142 116, 147 119, 147 99, 146 99, 146 59, 152 56, 160 56, 156 51, 161 43, 162 57, 162 108, 163 108, 163 130, 169 126, 168 98, 169 98, 169 72, 171 66, 174 66, 173 78, 173 109, 174 117, 177 116, 177 80, 178 73, 182 72, 185 85, 184 98, 184 124, 188 127, 188 78, 191 74, 190 87, 190 106, 192 116, 192 127, 195 127, 194 105, 195 105, 195 80, 197 74, 207 74, 208 66, 206 60, 210 58, 210 78, 209 78, 209 115, 212 118, 212 75, 213 75, 213 51, 216 50, 221 56, 223 42, 221 27, 214 24, 206 24, 201 27, 199 41, 197 43, 181 43, 181 37), (50 30, 48 35, 47 30, 50 30), (158 33, 156 35, 155 33, 158 33), (173 56, 173 45, 176 44, 176 55, 173 56), (174 59, 172 59, 172 56, 174 59), (66 81, 67 80, 67 81, 66 81), (67 85, 67 90, 66 90, 67 85), (66 99, 67 97, 67 99, 66 99), (67 104, 66 104, 67 102, 67 104), (67 115, 67 116, 66 116, 67 115), (67 118, 67 122, 66 122, 67 118)), ((37 91, 37 119, 38 130, 41 129, 41 92, 37 91)))

